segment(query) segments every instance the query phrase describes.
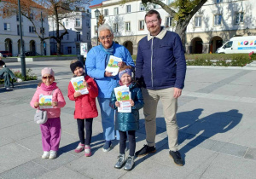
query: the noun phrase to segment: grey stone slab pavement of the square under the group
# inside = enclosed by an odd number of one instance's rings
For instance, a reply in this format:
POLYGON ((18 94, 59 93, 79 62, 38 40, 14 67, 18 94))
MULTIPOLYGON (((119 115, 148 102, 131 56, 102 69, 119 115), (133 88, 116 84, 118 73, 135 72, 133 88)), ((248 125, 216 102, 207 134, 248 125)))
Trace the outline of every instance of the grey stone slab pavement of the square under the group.
MULTIPOLYGON (((79 143, 73 119, 74 102, 67 98, 72 72, 70 61, 26 62, 40 78, 45 66, 55 70, 67 106, 61 110, 61 144, 57 159, 41 159, 41 132, 29 106, 37 83, 0 88, 0 178, 255 178, 256 176, 256 71, 250 68, 188 66, 183 95, 178 99, 180 152, 177 166, 168 156, 166 124, 161 104, 157 111, 157 153, 136 159, 131 171, 117 170, 119 146, 102 152, 102 124, 94 118, 92 156, 74 153, 79 143)), ((20 63, 8 63, 20 70, 20 63)), ((99 109, 99 108, 98 108, 99 109)), ((143 110, 137 149, 145 144, 143 110)))

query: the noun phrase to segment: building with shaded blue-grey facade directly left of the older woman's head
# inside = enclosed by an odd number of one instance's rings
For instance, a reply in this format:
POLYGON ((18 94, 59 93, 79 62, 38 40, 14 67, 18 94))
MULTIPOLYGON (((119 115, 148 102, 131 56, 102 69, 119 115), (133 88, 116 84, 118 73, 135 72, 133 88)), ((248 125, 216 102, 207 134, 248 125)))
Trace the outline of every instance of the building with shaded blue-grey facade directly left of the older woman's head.
MULTIPOLYGON (((90 42, 90 11, 84 8, 77 8, 73 13, 66 14, 67 18, 61 20, 61 23, 67 29, 66 34, 61 40, 61 53, 64 55, 79 55, 80 43, 88 43, 88 49, 91 48, 90 42), (67 17, 68 16, 68 17, 67 17)), ((56 31, 55 20, 49 20, 49 35, 54 35, 56 31)), ((63 26, 60 26, 60 35, 64 32, 63 26)), ((55 39, 50 39, 50 54, 54 55, 57 51, 55 39)))

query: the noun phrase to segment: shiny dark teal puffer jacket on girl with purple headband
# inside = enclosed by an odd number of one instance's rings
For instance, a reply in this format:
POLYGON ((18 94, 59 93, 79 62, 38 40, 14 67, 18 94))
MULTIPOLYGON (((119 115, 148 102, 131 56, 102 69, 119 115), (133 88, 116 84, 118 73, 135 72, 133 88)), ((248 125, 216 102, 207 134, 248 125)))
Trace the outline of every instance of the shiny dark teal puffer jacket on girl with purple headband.
MULTIPOLYGON (((118 84, 119 86, 119 84, 118 84)), ((131 113, 115 113, 115 130, 128 131, 128 130, 139 130, 139 109, 143 108, 143 93, 137 84, 132 83, 129 85, 131 92, 131 99, 134 101, 134 106, 131 107, 131 113)), ((110 107, 117 109, 115 106, 116 96, 114 91, 111 95, 110 107)))

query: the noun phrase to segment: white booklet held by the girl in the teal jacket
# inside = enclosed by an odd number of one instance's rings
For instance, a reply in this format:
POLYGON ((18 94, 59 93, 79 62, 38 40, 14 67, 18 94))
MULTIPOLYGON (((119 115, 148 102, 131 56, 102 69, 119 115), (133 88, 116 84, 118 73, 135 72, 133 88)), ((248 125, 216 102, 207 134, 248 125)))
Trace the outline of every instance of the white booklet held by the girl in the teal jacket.
POLYGON ((114 94, 116 100, 119 101, 120 107, 118 107, 119 113, 131 113, 131 92, 126 85, 114 88, 114 94))

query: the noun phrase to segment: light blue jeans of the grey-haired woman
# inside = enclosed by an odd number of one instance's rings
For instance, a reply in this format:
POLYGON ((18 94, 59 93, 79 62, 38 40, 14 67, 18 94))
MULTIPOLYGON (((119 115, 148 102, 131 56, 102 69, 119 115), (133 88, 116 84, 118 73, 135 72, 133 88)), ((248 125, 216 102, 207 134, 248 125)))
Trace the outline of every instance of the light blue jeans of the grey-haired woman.
POLYGON ((104 139, 106 141, 114 140, 116 134, 116 138, 119 140, 119 131, 114 130, 114 110, 113 108, 109 107, 110 98, 98 97, 98 102, 101 107, 104 139))

